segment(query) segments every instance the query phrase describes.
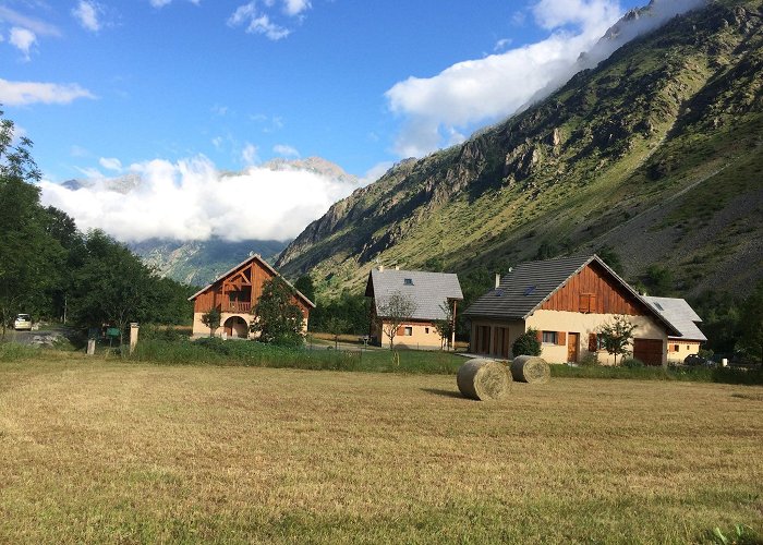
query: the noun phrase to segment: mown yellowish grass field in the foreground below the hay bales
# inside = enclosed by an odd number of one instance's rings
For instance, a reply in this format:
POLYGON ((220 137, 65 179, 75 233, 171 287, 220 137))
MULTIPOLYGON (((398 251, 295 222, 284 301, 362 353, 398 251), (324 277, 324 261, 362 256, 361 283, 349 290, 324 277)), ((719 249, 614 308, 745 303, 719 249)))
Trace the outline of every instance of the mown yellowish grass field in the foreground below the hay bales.
POLYGON ((763 388, 0 363, 0 543, 712 542, 763 533, 763 388))

